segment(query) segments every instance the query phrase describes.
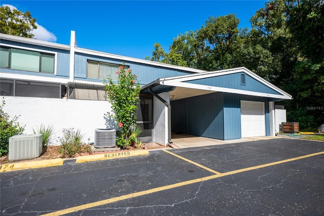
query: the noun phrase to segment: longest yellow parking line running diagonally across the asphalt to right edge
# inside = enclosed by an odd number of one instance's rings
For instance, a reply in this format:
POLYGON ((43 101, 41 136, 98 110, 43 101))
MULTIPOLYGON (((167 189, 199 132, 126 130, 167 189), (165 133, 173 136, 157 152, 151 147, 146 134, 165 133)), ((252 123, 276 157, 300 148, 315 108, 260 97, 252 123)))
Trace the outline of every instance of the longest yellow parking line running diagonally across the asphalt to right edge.
POLYGON ((132 194, 127 194, 127 195, 123 195, 123 196, 119 196, 119 197, 113 197, 113 198, 110 198, 110 199, 101 200, 101 201, 97 201, 97 202, 92 202, 92 203, 88 203, 88 204, 84 204, 84 205, 78 205, 78 206, 75 206, 75 207, 66 208, 66 209, 63 209, 63 210, 47 213, 47 214, 44 214, 44 215, 63 215, 63 214, 71 213, 71 212, 76 212, 76 211, 79 211, 79 210, 84 210, 84 209, 87 209, 87 208, 93 208, 93 207, 97 207, 97 206, 100 206, 100 205, 109 204, 109 203, 112 203, 112 202, 117 202, 117 201, 121 201, 121 200, 125 200, 125 199, 131 199, 131 198, 135 198, 135 197, 138 197, 138 196, 143 196, 143 195, 147 195, 147 194, 151 194, 151 193, 156 193, 156 192, 159 192, 159 191, 169 190, 169 189, 173 189, 173 188, 177 188, 177 187, 181 187, 181 186, 185 186, 185 185, 190 185, 190 184, 194 184, 194 183, 204 182, 204 181, 208 181, 210 179, 219 178, 219 177, 226 176, 226 175, 236 174, 236 173, 239 173, 239 172, 250 171, 250 170, 264 168, 264 167, 268 167, 268 166, 274 166, 274 165, 277 165, 277 164, 287 163, 287 162, 300 160, 300 159, 304 159, 304 158, 308 158, 308 157, 312 157, 312 156, 316 156, 316 155, 321 155, 321 154, 324 154, 324 152, 318 152, 318 153, 314 153, 314 154, 304 155, 304 156, 301 156, 301 157, 291 158, 291 159, 282 160, 282 161, 276 161, 276 162, 273 162, 273 163, 248 167, 248 168, 244 168, 244 169, 233 170, 233 171, 224 172, 224 173, 220 173, 220 174, 216 174, 216 175, 210 175, 210 176, 207 176, 207 177, 196 178, 196 179, 192 179, 192 180, 189 180, 189 181, 180 182, 180 183, 176 183, 176 184, 172 184, 172 185, 153 188, 153 189, 140 191, 140 192, 136 192, 136 193, 132 193, 132 194))

